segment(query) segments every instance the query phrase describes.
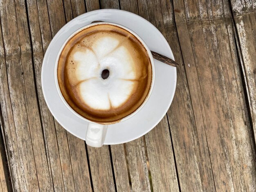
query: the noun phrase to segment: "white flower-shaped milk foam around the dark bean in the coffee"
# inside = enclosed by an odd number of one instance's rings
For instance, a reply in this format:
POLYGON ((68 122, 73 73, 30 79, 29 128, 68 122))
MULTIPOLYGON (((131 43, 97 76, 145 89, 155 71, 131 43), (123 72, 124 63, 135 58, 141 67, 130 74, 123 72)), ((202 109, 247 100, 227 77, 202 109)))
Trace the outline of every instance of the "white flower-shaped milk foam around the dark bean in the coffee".
MULTIPOLYGON (((86 46, 78 44, 70 54, 70 63, 73 64, 67 67, 70 83, 76 86, 80 100, 92 109, 120 107, 137 86, 136 80, 141 74, 136 71, 132 51, 123 45, 126 40, 126 37, 120 39, 105 34, 90 40, 86 46), (101 78, 104 69, 110 71, 106 79, 101 78)), ((86 41, 84 38, 80 42, 86 41)))

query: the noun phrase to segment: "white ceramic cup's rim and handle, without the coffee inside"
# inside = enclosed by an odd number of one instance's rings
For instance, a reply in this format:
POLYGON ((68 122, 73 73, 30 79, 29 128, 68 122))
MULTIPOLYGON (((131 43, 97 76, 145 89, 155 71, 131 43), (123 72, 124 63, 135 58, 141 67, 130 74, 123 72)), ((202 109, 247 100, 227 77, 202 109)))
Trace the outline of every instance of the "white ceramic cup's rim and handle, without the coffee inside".
POLYGON ((84 118, 83 116, 79 115, 78 113, 76 113, 74 111, 74 109, 72 109, 70 107, 70 105, 68 105, 68 103, 66 102, 65 98, 63 97, 63 95, 61 94, 61 89, 58 85, 58 78, 57 78, 57 67, 58 67, 58 58, 61 54, 62 49, 65 47, 66 43, 68 40, 70 40, 70 38, 72 38, 76 33, 78 33, 79 31, 82 31, 83 29, 86 29, 88 27, 92 27, 94 25, 99 25, 99 24, 110 24, 110 25, 114 25, 117 27, 121 27, 123 29, 125 29, 126 31, 129 31, 130 33, 132 33, 140 42, 141 44, 145 47, 146 51, 148 52, 148 56, 150 58, 150 63, 151 63, 151 69, 152 69, 152 79, 151 79, 151 86, 148 92, 148 95, 146 97, 146 99, 144 100, 144 102, 136 109, 135 112, 132 112, 131 114, 129 114, 128 116, 122 118, 120 121, 116 122, 122 122, 127 120, 128 118, 131 118, 132 116, 134 116, 135 114, 137 114, 140 109, 142 109, 144 107, 144 105, 146 105, 148 98, 150 97, 152 90, 153 90, 153 86, 154 86, 154 82, 155 82, 155 63, 154 63, 154 59, 153 56, 151 54, 150 49, 148 48, 148 46, 146 45, 146 43, 131 29, 128 29, 127 27, 124 27, 122 25, 116 24, 116 23, 111 23, 111 22, 95 22, 95 23, 91 23, 89 25, 85 25, 84 27, 81 27, 80 29, 74 31, 74 33, 72 33, 67 40, 65 40, 65 42, 63 43, 60 51, 58 52, 58 56, 55 62, 55 67, 54 67, 54 78, 55 78, 55 85, 58 91, 59 96, 61 97, 61 100, 63 101, 63 103, 66 105, 66 107, 76 116, 78 116, 79 118, 82 118, 85 121, 88 121, 88 127, 87 127, 87 132, 86 132, 86 136, 85 136, 85 142, 87 145, 90 145, 92 147, 101 147, 104 143, 105 137, 106 137, 106 133, 107 133, 107 129, 108 129, 108 125, 103 125, 103 124, 99 124, 99 123, 94 123, 93 121, 90 121, 86 118, 84 118))

